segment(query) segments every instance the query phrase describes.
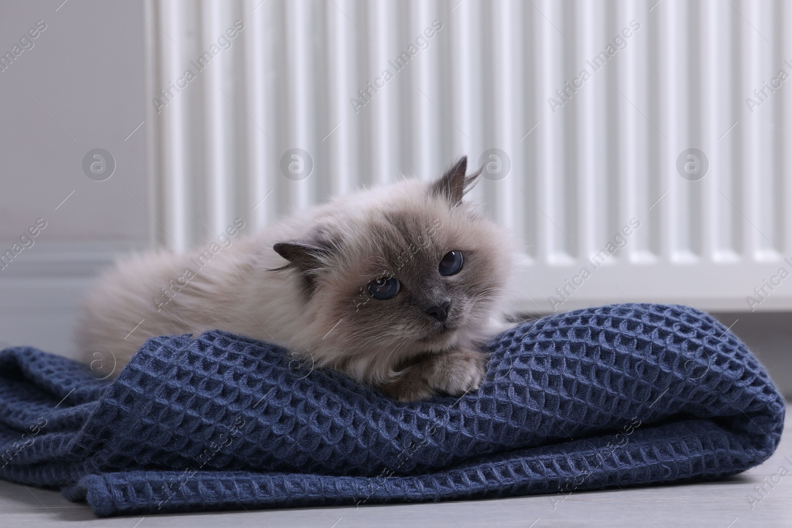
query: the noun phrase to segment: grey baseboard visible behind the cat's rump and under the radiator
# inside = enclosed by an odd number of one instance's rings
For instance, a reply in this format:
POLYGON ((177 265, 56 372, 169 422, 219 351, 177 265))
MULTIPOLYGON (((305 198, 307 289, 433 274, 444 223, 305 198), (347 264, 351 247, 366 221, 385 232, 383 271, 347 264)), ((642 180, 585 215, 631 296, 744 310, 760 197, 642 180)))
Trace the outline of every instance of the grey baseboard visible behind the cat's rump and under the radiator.
MULTIPOLYGON (((124 242, 52 243, 25 249, 0 270, 0 349, 30 345, 68 357, 81 355, 73 339, 81 298, 116 256, 139 249, 142 245, 124 242)), ((714 316, 731 326, 767 367, 779 390, 792 397, 792 313, 728 309, 714 310, 714 316)))

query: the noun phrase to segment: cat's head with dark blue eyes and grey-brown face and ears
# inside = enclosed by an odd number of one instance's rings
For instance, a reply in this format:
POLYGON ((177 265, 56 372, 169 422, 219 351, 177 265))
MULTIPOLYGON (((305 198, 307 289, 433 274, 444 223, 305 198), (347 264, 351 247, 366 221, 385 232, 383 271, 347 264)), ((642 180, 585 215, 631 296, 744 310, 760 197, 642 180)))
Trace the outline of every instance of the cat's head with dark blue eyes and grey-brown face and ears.
POLYGON ((481 173, 466 167, 340 199, 274 246, 305 299, 296 340, 315 362, 383 382, 423 353, 491 335, 514 247, 463 201, 481 173))

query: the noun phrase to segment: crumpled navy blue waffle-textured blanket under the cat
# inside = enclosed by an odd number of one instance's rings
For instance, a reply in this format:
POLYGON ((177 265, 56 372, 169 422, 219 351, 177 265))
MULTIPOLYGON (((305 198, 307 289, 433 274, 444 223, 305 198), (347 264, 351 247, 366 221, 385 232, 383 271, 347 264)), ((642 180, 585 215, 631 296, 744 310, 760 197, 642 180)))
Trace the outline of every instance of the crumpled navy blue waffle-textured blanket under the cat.
POLYGON ((398 403, 227 332, 163 336, 115 379, 0 352, 0 477, 99 516, 469 500, 739 473, 784 403, 706 313, 623 304, 497 336, 461 398, 398 403))

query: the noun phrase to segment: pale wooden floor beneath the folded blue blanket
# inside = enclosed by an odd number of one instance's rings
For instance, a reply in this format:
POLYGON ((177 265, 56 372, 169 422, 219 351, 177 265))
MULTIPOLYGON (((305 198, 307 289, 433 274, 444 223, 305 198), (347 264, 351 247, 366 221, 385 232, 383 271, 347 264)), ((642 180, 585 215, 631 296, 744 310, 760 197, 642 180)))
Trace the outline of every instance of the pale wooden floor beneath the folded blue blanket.
MULTIPOLYGON (((792 410, 792 405, 787 412, 792 410)), ((792 526, 792 436, 787 422, 779 449, 770 460, 726 481, 563 496, 531 496, 455 503, 322 507, 291 510, 147 515, 96 519, 85 504, 70 503, 59 492, 0 481, 0 526, 151 528, 166 526, 792 526), (785 476, 786 473, 790 473, 785 476), (774 478, 775 477, 775 478, 774 478), (763 500, 756 486, 764 484, 763 500), (554 502, 555 501, 555 502, 554 502)))

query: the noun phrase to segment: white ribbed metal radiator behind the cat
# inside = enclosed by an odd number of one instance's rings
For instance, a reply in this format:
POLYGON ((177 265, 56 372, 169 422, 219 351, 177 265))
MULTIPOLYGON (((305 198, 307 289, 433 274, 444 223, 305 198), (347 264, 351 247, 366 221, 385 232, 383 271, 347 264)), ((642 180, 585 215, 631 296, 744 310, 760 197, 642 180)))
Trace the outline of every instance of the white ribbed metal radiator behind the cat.
POLYGON ((159 244, 467 154, 525 310, 792 308, 792 2, 143 8, 159 244))

